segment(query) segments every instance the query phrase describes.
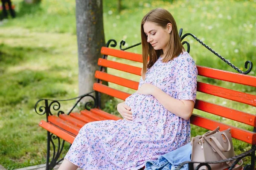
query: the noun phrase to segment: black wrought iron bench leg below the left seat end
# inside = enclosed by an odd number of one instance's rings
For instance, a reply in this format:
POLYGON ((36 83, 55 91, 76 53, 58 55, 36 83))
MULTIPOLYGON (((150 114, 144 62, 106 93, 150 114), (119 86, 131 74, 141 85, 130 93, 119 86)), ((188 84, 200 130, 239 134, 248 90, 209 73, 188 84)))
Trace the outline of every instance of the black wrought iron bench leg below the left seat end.
POLYGON ((58 136, 47 131, 47 158, 46 158, 46 170, 51 170, 57 165, 60 161, 63 161, 64 158, 59 159, 61 152, 64 147, 65 141, 60 139, 58 136), (55 146, 55 142, 52 140, 55 139, 57 141, 58 146, 55 146), (51 146, 52 146, 52 155, 51 153, 51 146), (50 160, 51 158, 51 160, 50 160))

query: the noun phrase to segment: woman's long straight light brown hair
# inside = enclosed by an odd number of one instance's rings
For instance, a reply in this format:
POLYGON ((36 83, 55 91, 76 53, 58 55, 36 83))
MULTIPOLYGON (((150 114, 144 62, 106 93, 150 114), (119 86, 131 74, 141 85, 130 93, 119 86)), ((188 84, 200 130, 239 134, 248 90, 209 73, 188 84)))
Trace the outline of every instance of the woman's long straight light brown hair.
POLYGON ((180 42, 180 37, 178 35, 177 25, 172 17, 172 14, 163 8, 156 8, 146 14, 141 21, 141 44, 142 44, 142 57, 143 57, 143 69, 141 75, 143 80, 145 80, 145 75, 147 68, 151 68, 154 63, 157 61, 157 57, 163 55, 163 50, 154 50, 154 48, 147 42, 147 36, 144 32, 143 25, 144 23, 152 22, 166 28, 168 23, 172 24, 172 31, 170 33, 170 41, 167 45, 167 51, 163 57, 163 62, 168 62, 171 59, 177 57, 184 50, 183 45, 180 42), (148 60, 149 56, 149 60, 148 60))

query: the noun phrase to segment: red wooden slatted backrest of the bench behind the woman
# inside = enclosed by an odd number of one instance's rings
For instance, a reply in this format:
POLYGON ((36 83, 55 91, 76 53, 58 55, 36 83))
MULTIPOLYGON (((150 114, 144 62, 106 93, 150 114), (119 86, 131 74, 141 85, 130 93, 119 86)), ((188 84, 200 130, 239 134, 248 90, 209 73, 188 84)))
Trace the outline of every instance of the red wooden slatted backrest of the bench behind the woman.
MULTIPOLYGON (((116 50, 116 49, 107 48, 107 47, 102 47, 101 53, 104 55, 127 59, 135 62, 142 62, 141 54, 135 54, 135 53, 116 50)), ((128 64, 120 63, 116 61, 111 61, 108 59, 99 59, 98 65, 106 68, 113 68, 119 71, 125 71, 130 74, 134 74, 138 76, 141 75, 140 67, 136 67, 133 65, 128 65, 128 64)), ((197 65, 197 68, 198 68, 198 76, 201 76, 201 77, 208 77, 214 80, 221 80, 226 82, 232 82, 234 84, 251 86, 253 88, 256 87, 256 77, 254 76, 248 76, 248 75, 238 74, 238 73, 233 73, 228 71, 221 71, 218 69, 207 68, 199 65, 197 65)), ((126 79, 124 77, 119 77, 118 75, 111 75, 103 71, 96 71, 95 77, 97 79, 115 83, 117 85, 121 85, 134 90, 137 90, 139 85, 139 82, 137 81, 126 79)), ((200 82, 200 80, 201 79, 199 78, 198 85, 197 85, 198 92, 213 95, 213 96, 218 96, 220 98, 236 101, 239 103, 244 103, 245 104, 244 107, 246 108, 248 106, 249 107, 256 106, 256 95, 231 90, 230 88, 223 88, 223 87, 208 84, 205 82, 200 82)), ((113 96, 122 100, 125 100, 128 96, 131 95, 125 91, 120 91, 114 88, 110 88, 106 85, 102 85, 101 83, 95 83, 93 85, 93 89, 95 91, 99 91, 100 93, 108 94, 110 96, 113 96)), ((203 99, 198 99, 198 97, 195 103, 195 109, 199 111, 204 111, 203 115, 205 115, 206 113, 207 114, 211 113, 220 117, 219 119, 215 120, 215 119, 206 118, 204 116, 200 116, 198 114, 193 113, 193 115, 190 118, 191 124, 197 125, 199 127, 203 127, 208 130, 213 130, 218 126, 220 127, 220 130, 231 128, 231 134, 233 138, 239 139, 249 144, 256 144, 256 133, 254 133, 253 130, 249 131, 249 130, 246 130, 248 128, 244 129, 244 127, 239 128, 232 125, 227 125, 227 124, 224 124, 223 121, 221 121, 223 118, 231 119, 233 121, 241 122, 246 125, 249 125, 251 126, 251 128, 249 129, 252 129, 256 127, 255 115, 250 113, 245 113, 243 111, 238 111, 233 108, 228 108, 222 105, 217 105, 215 104, 215 102, 214 103, 207 102, 207 101, 204 101, 203 99)), ((255 108, 252 108, 252 110, 253 109, 255 108)))

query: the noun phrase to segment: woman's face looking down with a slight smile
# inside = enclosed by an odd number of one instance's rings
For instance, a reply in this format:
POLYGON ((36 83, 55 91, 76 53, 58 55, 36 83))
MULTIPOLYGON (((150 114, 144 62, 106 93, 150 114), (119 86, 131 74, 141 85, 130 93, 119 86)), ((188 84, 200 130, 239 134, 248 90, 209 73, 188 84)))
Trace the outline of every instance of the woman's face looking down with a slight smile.
POLYGON ((170 41, 172 24, 169 23, 166 28, 162 28, 155 23, 146 21, 143 25, 143 29, 147 36, 148 43, 152 45, 154 50, 163 49, 163 54, 165 54, 167 45, 170 41))

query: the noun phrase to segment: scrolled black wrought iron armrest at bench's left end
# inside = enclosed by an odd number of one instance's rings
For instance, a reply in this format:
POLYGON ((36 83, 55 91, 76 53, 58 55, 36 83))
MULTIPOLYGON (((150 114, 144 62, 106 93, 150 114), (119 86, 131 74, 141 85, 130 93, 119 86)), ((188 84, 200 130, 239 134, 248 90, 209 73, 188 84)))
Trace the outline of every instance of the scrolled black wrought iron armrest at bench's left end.
POLYGON ((58 116, 59 116, 59 114, 64 114, 64 111, 59 110, 61 108, 60 102, 78 99, 76 101, 76 104, 73 106, 73 108, 71 108, 70 111, 67 113, 67 115, 69 115, 73 111, 73 109, 76 107, 76 105, 81 101, 81 99, 83 99, 86 96, 89 96, 93 99, 93 101, 85 103, 85 108, 87 110, 90 110, 90 108, 96 107, 96 98, 91 95, 94 92, 95 91, 92 91, 90 93, 83 94, 81 96, 78 96, 72 99, 65 99, 65 100, 40 99, 35 103, 35 112, 38 113, 39 115, 47 114, 47 117, 48 117, 49 115, 53 115, 51 111, 51 109, 53 109, 54 111, 58 111, 58 116), (42 101, 44 101, 44 104, 41 104, 42 101), (39 106, 39 103, 41 104, 41 106, 39 106))

